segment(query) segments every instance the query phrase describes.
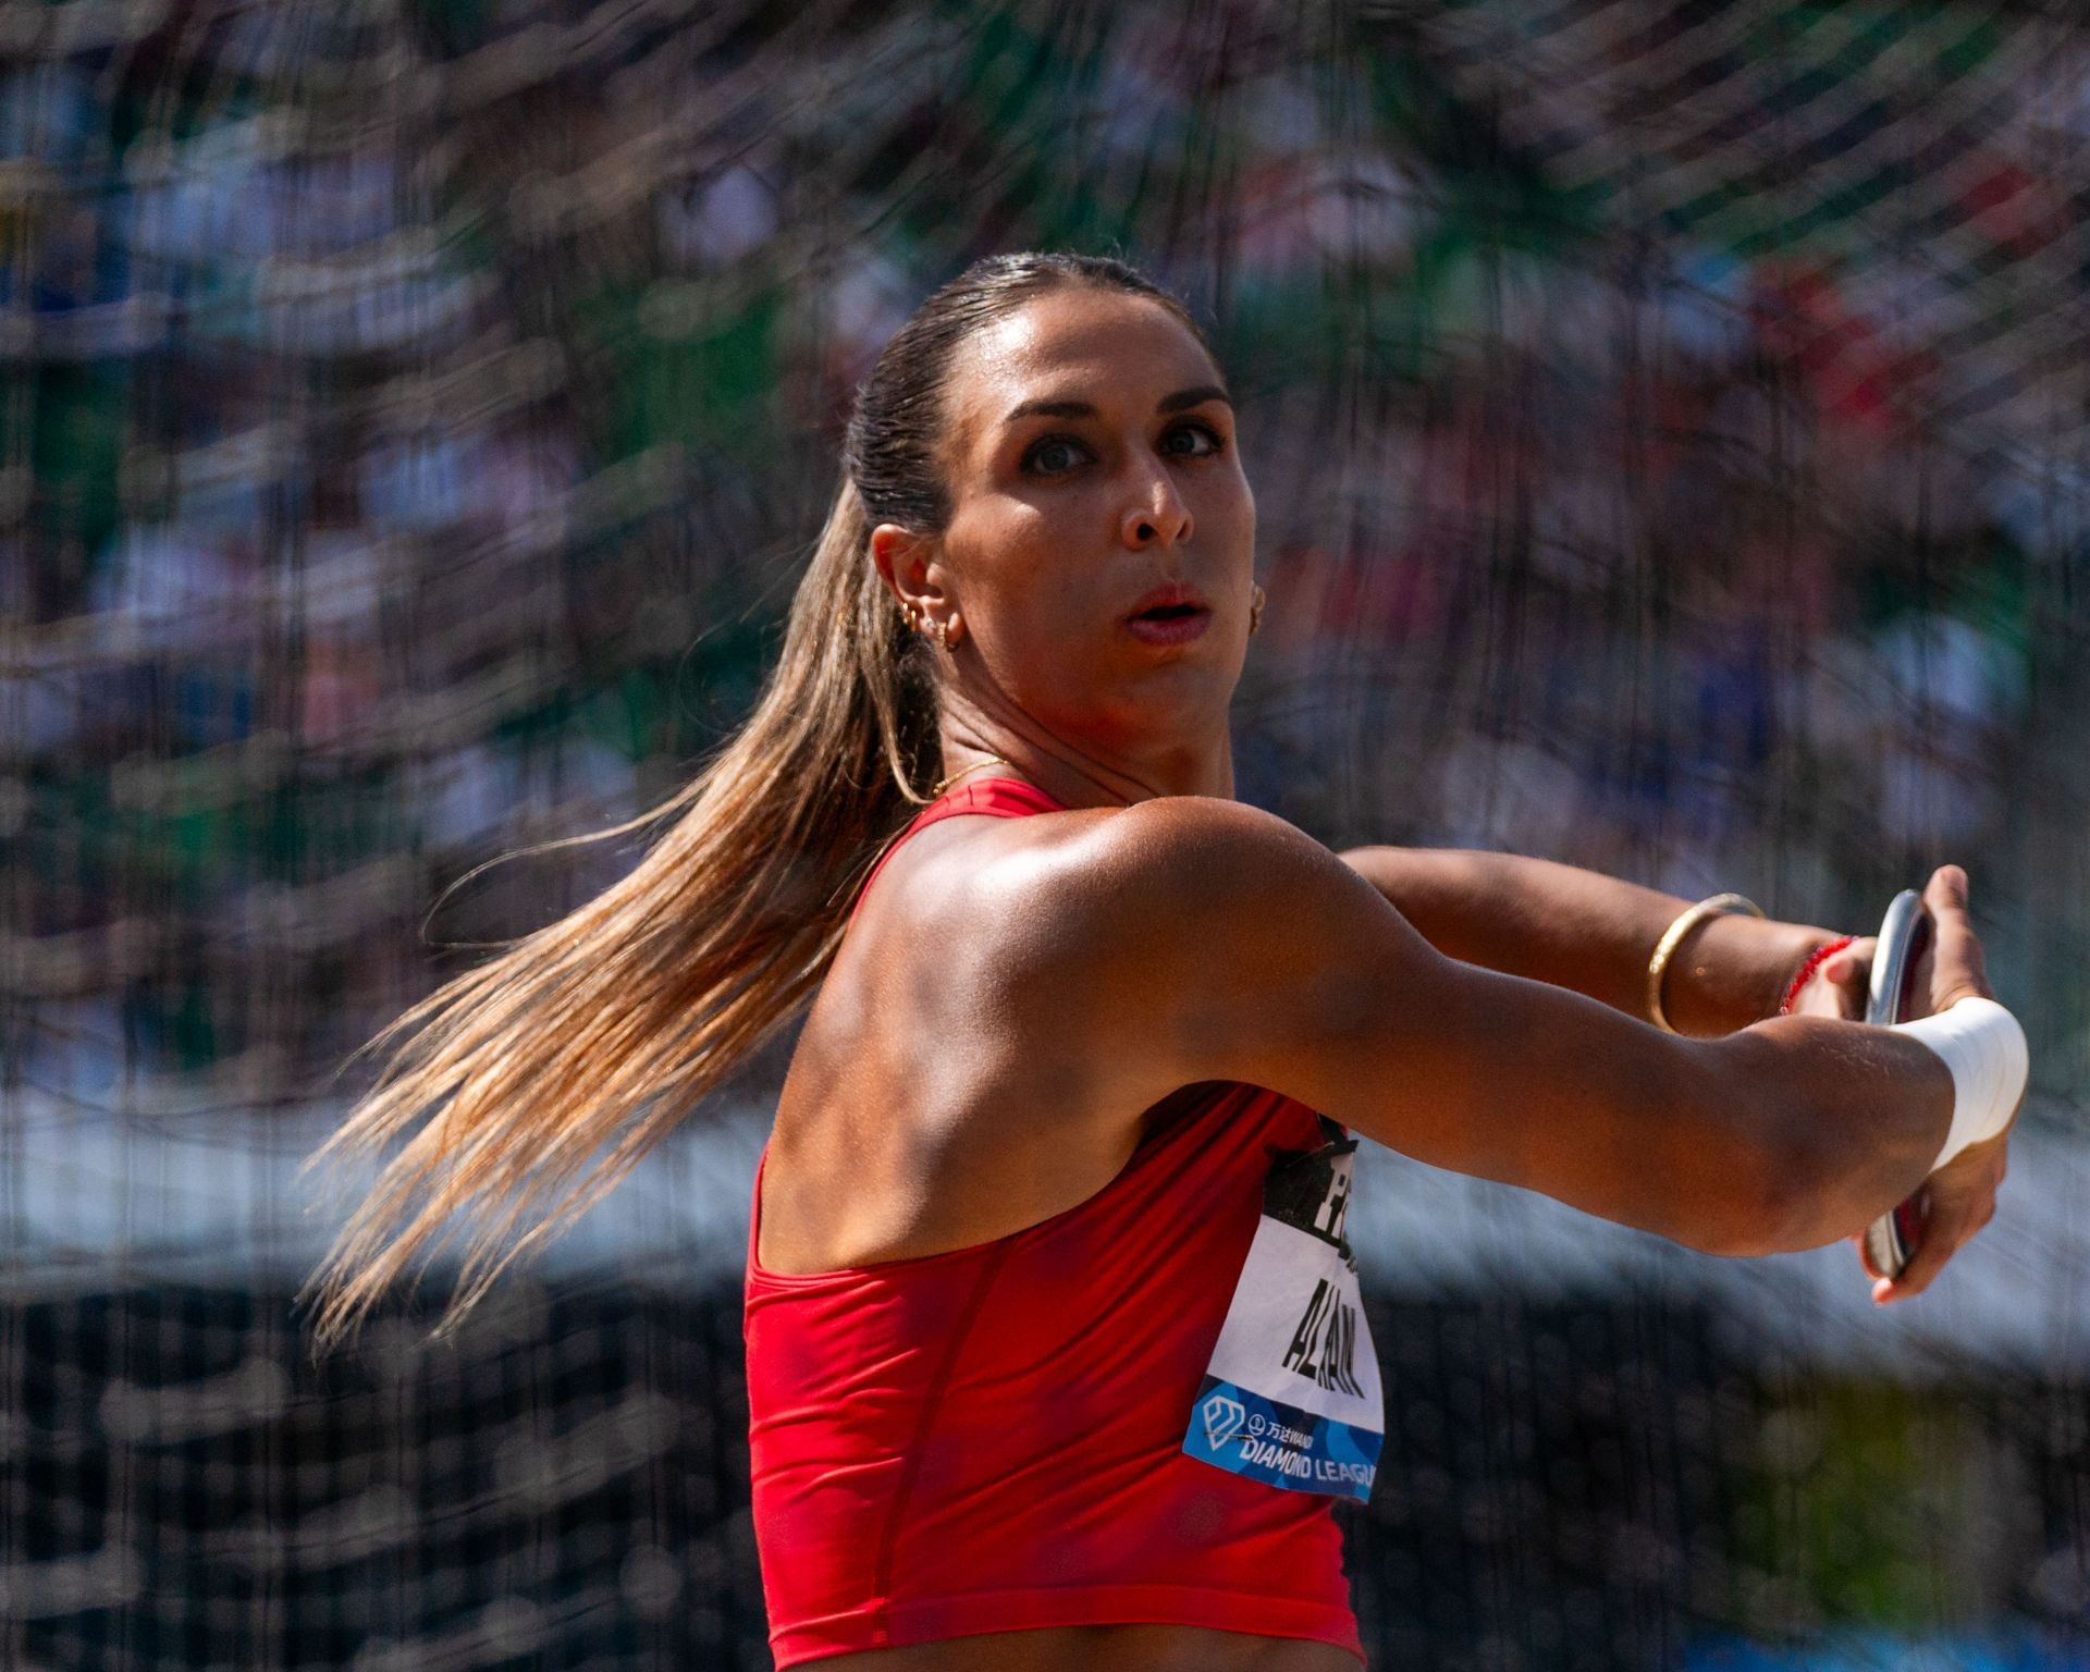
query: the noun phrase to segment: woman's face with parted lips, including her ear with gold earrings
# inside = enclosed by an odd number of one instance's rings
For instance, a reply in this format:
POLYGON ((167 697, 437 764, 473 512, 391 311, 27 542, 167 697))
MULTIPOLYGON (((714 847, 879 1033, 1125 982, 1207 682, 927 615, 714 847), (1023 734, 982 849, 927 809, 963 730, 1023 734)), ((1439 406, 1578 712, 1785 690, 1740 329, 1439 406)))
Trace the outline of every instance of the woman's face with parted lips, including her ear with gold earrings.
POLYGON ((963 623, 947 698, 1014 704, 1116 763, 1225 734, 1256 502, 1218 368, 1166 307, 1068 286, 970 336, 945 385, 943 466, 943 535, 880 529, 874 552, 963 623), (1170 585, 1204 606, 1202 631, 1133 619, 1170 585))

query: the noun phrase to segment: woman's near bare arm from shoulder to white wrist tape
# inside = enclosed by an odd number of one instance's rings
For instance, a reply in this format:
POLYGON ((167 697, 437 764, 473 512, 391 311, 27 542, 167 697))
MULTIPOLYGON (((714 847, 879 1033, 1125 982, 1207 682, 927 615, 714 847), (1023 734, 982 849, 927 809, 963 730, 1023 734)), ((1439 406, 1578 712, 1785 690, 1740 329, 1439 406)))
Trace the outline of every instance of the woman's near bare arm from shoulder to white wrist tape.
POLYGON ((1883 1028, 1678 1039, 1444 957, 1350 865, 1239 803, 1139 803, 1007 886, 1024 1051, 1116 1108, 1248 1081, 1712 1252, 1860 1229, 1921 1183, 1950 1118, 1944 1064, 1883 1028))

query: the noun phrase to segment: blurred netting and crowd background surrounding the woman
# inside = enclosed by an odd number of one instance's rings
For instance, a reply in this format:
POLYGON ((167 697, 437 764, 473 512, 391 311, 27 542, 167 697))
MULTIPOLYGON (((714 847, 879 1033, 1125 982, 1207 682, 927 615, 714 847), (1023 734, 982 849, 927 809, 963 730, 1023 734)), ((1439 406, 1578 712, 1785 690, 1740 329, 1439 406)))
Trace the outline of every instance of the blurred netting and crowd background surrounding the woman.
POLYGON ((291 1166, 472 957, 445 884, 746 713, 849 389, 1018 247, 1212 322, 1246 800, 1854 930, 1956 859, 2034 1041, 2000 1216, 1885 1317, 1371 1156, 1373 1664, 2086 1664, 2090 29, 73 0, 0 67, 0 1664, 767 1664, 775 1062, 456 1346, 307 1363, 291 1166))

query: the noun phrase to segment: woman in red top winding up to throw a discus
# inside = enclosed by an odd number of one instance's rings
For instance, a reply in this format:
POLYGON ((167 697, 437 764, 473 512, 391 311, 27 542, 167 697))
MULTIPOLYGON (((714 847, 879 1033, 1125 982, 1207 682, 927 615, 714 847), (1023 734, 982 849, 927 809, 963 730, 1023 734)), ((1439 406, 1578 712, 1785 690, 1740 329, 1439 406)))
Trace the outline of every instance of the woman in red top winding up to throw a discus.
POLYGON ((1921 1292, 2023 1091, 1965 874, 1927 890, 1937 1014, 1868 1028, 1866 943, 1329 853, 1233 800, 1254 537, 1225 378, 1137 272, 995 257, 930 297, 748 727, 625 882, 380 1035, 420 1024, 336 1143, 435 1114, 322 1333, 495 1204, 468 1306, 811 997, 746 1275, 777 1666, 1354 1672, 1352 1135, 1710 1254, 1927 1185, 1875 1273, 1921 1292))

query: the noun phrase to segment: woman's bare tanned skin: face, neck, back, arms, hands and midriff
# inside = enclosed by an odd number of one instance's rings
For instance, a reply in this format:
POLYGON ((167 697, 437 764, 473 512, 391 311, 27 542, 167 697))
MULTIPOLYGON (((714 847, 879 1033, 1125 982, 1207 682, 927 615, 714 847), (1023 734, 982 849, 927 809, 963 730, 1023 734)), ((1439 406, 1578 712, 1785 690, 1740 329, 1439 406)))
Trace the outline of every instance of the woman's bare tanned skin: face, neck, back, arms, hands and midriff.
MULTIPOLYGON (((901 846, 807 1018, 777 1108, 761 1260, 938 1254, 1072 1208, 1198 1081, 1281 1091, 1436 1166, 1712 1254, 1854 1237, 1944 1143, 1952 1078, 1852 1026, 1871 947, 1764 1020, 1829 930, 1708 922, 1645 1018, 1687 901, 1480 853, 1331 853, 1233 800, 1254 497, 1225 380, 1152 301, 1051 291, 959 351, 938 537, 882 525, 901 604, 943 623, 943 769, 1066 813, 957 817, 901 846), (1206 633, 1124 625, 1181 581, 1206 633)), ((1933 1007, 1988 993, 1942 867, 1933 1007)), ((1929 1179, 1921 1292, 1994 1212, 2006 1139, 1929 1179)), ((865 1672, 1356 1672, 1327 1643, 1085 1626, 842 1655, 865 1672)))

